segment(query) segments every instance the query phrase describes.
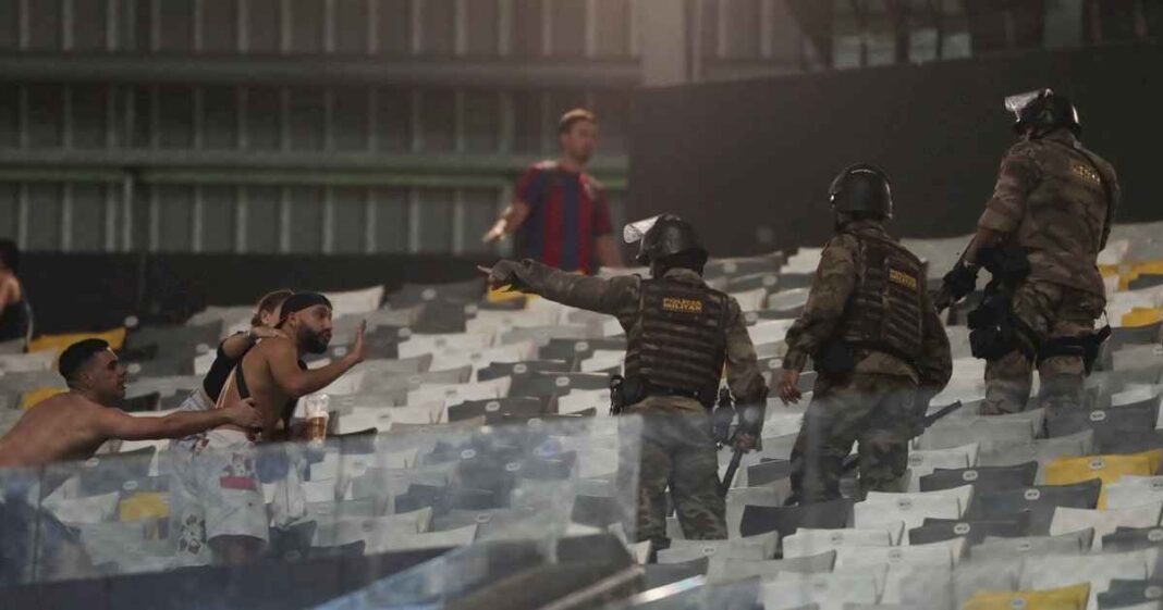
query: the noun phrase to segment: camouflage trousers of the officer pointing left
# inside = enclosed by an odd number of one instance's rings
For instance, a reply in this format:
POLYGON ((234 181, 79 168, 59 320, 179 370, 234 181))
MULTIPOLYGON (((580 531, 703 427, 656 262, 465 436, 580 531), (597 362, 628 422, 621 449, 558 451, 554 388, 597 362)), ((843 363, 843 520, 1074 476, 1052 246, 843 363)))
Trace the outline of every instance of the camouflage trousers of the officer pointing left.
MULTIPOLYGON (((684 537, 727 538, 727 508, 719 496, 719 452, 711 437, 711 417, 702 406, 691 399, 657 396, 623 414, 642 417, 634 538, 650 540, 655 550, 670 546, 668 487, 684 537)), ((619 472, 620 488, 633 485, 633 471, 619 472)))

